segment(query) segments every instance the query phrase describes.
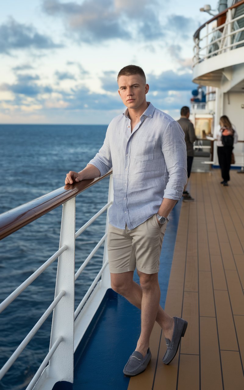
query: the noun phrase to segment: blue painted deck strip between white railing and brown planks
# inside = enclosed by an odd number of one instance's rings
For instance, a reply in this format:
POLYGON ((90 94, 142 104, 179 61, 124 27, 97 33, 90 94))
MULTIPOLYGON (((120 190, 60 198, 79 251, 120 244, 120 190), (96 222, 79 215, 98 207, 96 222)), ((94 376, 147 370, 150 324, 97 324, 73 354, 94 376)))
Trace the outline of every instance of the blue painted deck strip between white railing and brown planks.
MULTIPOLYGON (((160 256, 160 304, 165 305, 181 202, 171 212, 160 256)), ((135 273, 135 280, 138 277, 135 273)), ((123 368, 140 334, 140 310, 111 289, 75 353, 73 390, 126 390, 123 368)))

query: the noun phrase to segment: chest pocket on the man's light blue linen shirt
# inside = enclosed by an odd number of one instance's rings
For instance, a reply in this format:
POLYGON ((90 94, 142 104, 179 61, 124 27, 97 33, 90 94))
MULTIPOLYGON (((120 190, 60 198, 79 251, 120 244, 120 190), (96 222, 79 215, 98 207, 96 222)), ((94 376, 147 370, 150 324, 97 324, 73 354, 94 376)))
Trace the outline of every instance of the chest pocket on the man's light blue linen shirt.
POLYGON ((133 140, 132 155, 138 161, 153 160, 156 138, 138 137, 133 140))

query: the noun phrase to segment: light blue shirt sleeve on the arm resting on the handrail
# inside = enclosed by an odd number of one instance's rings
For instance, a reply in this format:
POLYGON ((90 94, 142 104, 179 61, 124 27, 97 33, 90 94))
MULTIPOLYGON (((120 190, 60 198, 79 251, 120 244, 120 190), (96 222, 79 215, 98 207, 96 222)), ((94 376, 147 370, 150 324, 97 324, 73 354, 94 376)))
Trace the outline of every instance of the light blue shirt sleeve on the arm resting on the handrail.
POLYGON ((94 165, 96 168, 98 168, 98 170, 100 170, 100 176, 105 175, 112 168, 112 158, 109 145, 108 131, 106 133, 103 146, 101 147, 101 149, 99 149, 96 156, 91 161, 89 161, 87 165, 89 164, 94 165))

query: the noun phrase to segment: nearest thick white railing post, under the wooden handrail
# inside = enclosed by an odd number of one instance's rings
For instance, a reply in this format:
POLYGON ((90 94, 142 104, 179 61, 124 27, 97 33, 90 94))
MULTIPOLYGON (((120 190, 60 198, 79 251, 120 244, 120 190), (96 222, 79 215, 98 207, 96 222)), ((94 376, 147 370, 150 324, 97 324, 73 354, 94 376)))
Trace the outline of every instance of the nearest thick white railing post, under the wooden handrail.
POLYGON ((55 297, 65 291, 53 310, 50 348, 62 336, 63 341, 49 361, 49 376, 73 383, 74 371, 74 295, 75 295, 75 197, 63 204, 60 244, 68 249, 59 256, 55 297))

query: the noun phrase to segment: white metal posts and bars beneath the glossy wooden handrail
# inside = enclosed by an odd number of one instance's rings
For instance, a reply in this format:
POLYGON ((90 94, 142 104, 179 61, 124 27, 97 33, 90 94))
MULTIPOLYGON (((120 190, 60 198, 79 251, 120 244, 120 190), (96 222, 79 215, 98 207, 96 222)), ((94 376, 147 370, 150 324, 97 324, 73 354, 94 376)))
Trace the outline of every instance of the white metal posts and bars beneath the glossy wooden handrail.
MULTIPOLYGON (((49 194, 48 194, 49 195, 49 194)), ((7 362, 0 370, 0 379, 6 374, 23 349, 28 345, 30 340, 34 337, 41 325, 46 321, 48 316, 53 311, 52 330, 50 335, 50 349, 46 355, 43 363, 37 370, 34 378, 30 381, 26 390, 44 389, 45 383, 49 380, 49 388, 58 381, 68 381, 73 383, 73 354, 74 354, 74 321, 82 317, 82 308, 88 299, 91 299, 94 289, 99 289, 103 286, 102 294, 110 287, 110 280, 107 266, 107 228, 108 228, 108 214, 106 231, 102 239, 91 251, 87 259, 75 274, 75 239, 84 232, 91 223, 93 223, 102 213, 108 211, 113 202, 112 190, 112 174, 109 182, 109 197, 108 203, 102 207, 88 222, 84 224, 77 232, 75 232, 75 196, 63 204, 62 222, 60 231, 59 250, 55 252, 40 268, 38 268, 30 277, 25 280, 13 293, 11 293, 1 304, 0 313, 8 307, 43 271, 45 271, 50 264, 58 257, 57 278, 55 287, 55 298, 45 313, 34 325, 32 330, 28 333, 21 344, 16 348, 14 353, 10 356, 7 362), (103 265, 98 275, 95 277, 87 293, 82 301, 79 303, 74 313, 75 301, 75 280, 84 270, 98 248, 104 245, 103 265), (104 272, 106 271, 106 272, 104 272), (101 279, 102 277, 102 279, 101 279), (105 278, 105 280, 103 280, 105 278), (101 280, 100 280, 101 279, 101 280), (105 288, 104 288, 105 287, 105 288), (58 351, 58 353, 55 353, 58 351), (49 363, 48 363, 49 362, 49 363), (48 364, 48 366, 47 366, 48 364), (46 367, 47 366, 47 367, 46 367), (49 379, 47 379, 49 378, 49 379), (51 378, 51 381, 50 381, 51 378)), ((101 292, 100 292, 101 299, 101 292)), ((92 318, 91 318, 92 319, 92 318)), ((91 321, 89 319, 89 321, 91 321)), ((86 323, 86 327, 88 323, 86 323)))

